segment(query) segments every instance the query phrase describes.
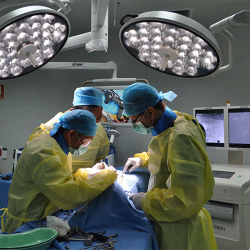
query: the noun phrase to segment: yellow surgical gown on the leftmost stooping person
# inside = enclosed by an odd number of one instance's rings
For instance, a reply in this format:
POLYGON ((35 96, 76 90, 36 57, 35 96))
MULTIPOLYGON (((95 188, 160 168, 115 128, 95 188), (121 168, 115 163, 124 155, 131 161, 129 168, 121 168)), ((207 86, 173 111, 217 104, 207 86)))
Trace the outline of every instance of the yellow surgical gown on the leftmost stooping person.
POLYGON ((5 222, 8 233, 60 208, 68 210, 84 205, 116 180, 116 174, 109 169, 92 179, 87 177, 89 169, 72 174, 67 155, 45 131, 41 127, 34 131, 18 160, 9 189, 5 222))

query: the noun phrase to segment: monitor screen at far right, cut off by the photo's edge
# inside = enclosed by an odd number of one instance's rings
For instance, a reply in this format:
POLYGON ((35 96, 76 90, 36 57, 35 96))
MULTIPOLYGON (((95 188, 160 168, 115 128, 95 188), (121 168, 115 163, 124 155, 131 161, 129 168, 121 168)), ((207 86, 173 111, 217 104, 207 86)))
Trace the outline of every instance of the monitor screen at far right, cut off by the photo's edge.
POLYGON ((229 147, 250 148, 250 108, 228 109, 229 147))

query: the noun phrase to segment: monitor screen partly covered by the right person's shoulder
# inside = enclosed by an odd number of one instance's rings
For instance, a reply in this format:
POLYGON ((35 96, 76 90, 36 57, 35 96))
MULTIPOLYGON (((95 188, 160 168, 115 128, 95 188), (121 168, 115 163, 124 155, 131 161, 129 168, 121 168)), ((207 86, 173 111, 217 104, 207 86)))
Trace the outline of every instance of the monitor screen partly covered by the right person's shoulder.
POLYGON ((224 109, 196 109, 195 117, 206 131, 206 145, 224 147, 224 109))

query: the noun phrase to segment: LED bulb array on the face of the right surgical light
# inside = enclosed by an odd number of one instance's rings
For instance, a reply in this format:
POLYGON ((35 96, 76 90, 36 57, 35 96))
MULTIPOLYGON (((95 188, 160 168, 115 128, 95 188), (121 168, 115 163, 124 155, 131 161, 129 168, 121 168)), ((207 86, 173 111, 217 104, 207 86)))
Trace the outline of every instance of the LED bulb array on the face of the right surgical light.
POLYGON ((173 24, 134 23, 124 30, 122 40, 138 60, 173 75, 206 74, 217 64, 216 53, 205 40, 173 24))

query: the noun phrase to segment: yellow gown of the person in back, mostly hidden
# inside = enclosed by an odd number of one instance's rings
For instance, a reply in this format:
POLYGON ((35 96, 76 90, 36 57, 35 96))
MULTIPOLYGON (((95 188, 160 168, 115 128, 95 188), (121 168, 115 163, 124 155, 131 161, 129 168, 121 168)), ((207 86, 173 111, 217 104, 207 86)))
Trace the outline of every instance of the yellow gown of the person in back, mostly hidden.
MULTIPOLYGON (((59 112, 51 120, 45 123, 47 130, 52 130, 53 124, 59 121, 59 117, 63 115, 62 112, 59 112)), ((101 124, 98 125, 96 135, 92 140, 88 151, 82 155, 76 156, 69 153, 69 158, 72 157, 72 167, 76 172, 79 168, 88 168, 93 167, 95 163, 105 160, 105 157, 109 153, 109 139, 108 136, 101 124)))

